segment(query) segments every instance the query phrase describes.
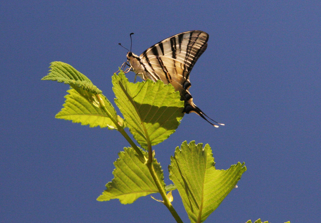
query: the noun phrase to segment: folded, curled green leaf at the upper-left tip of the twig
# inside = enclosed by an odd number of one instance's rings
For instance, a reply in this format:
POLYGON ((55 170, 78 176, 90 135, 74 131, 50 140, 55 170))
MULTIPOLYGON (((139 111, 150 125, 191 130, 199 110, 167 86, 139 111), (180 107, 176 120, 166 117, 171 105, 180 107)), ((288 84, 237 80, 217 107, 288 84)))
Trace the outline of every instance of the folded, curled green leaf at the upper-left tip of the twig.
MULTIPOLYGON (((92 84, 88 77, 84 76, 69 64, 54 61, 49 68, 50 73, 41 80, 64 82, 75 88, 76 91, 78 91, 77 88, 82 88, 83 90, 94 94, 102 93, 101 90, 92 84)), ((81 92, 79 93, 82 94, 81 92)))

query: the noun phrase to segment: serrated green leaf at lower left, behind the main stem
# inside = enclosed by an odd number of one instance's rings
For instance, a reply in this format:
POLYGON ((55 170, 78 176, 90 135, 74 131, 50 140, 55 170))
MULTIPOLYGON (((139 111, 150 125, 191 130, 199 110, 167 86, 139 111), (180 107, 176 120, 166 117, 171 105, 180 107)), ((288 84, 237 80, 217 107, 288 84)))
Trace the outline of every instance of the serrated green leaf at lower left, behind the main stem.
MULTIPOLYGON (((97 201, 109 201, 119 199, 122 204, 133 203, 137 198, 151 193, 157 193, 158 189, 148 167, 138 158, 137 153, 132 149, 124 148, 124 152, 118 153, 119 158, 114 162, 114 179, 106 184, 107 189, 97 198, 97 201)), ((148 153, 143 151, 144 156, 148 153)), ((165 188, 163 171, 161 166, 153 159, 153 166, 157 177, 165 188)))

